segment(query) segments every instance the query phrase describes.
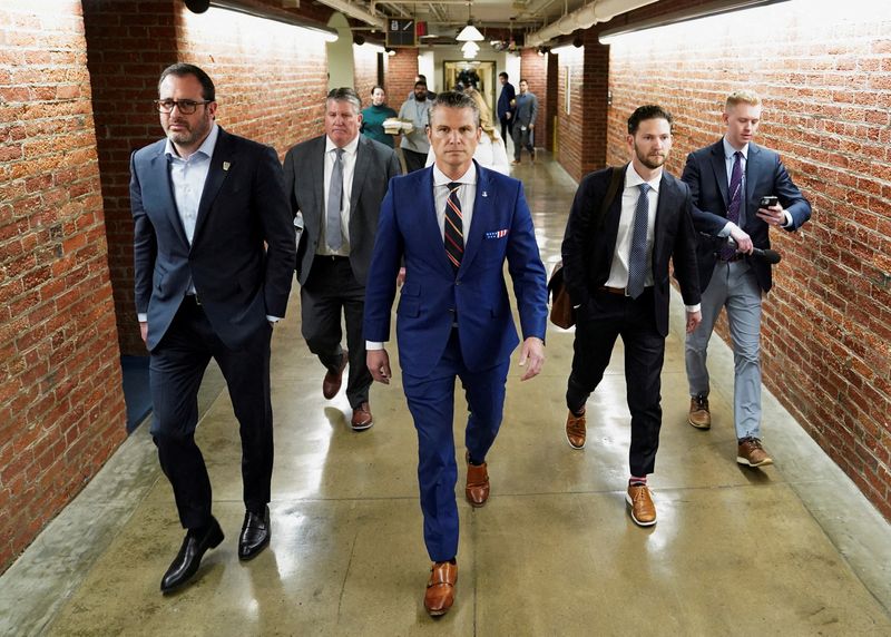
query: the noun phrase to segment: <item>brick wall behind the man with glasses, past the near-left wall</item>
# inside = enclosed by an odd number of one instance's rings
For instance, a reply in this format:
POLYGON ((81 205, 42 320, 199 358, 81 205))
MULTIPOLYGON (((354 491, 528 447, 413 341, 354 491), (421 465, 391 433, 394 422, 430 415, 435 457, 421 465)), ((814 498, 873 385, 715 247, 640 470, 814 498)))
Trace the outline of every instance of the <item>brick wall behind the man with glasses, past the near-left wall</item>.
POLYGON ((325 47, 295 27, 216 9, 195 14, 177 0, 90 0, 84 8, 121 350, 146 354, 133 298, 129 155, 163 135, 151 106, 160 71, 175 61, 200 66, 216 85, 221 126, 284 157, 322 131, 325 47))

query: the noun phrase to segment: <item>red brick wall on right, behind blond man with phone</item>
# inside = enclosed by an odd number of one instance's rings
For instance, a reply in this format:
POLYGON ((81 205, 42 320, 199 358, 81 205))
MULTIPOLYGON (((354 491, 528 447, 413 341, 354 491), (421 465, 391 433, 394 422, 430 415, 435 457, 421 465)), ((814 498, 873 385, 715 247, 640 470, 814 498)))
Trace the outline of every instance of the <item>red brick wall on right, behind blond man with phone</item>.
MULTIPOLYGON (((891 10, 826 20, 804 4, 614 42, 609 160, 626 159, 631 109, 660 102, 676 118, 679 174, 687 151, 723 134, 728 91, 761 94, 757 140, 814 208, 801 232, 772 233, 783 262, 764 302, 764 382, 891 519, 891 10)), ((770 422, 764 433, 770 445, 770 422)))

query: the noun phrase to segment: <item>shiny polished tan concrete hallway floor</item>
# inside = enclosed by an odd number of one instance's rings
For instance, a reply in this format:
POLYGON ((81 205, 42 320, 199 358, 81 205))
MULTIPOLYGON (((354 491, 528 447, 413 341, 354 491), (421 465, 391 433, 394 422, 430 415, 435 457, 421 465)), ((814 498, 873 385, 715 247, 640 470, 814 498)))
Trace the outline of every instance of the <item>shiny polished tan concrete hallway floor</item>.
MULTIPOLYGON (((515 176, 550 264, 575 184, 544 154, 515 176)), ((158 590, 182 530, 144 424, 0 579, 0 634, 891 635, 891 528, 770 394, 764 435, 776 464, 736 464, 732 361, 719 343, 709 356, 715 427, 686 424, 678 298, 652 477, 658 523, 638 528, 625 509, 620 343, 588 405, 588 447, 574 451, 562 399, 572 334, 554 329, 540 378, 521 384, 511 370, 492 496, 478 510, 459 498, 457 602, 431 619, 417 439, 399 374, 373 389, 375 425, 352 432, 343 393, 321 395, 323 370, 292 298, 273 342, 271 548, 237 559, 238 438, 212 367, 198 438, 226 540, 194 584, 158 590)), ((460 428, 456 439, 461 449, 460 428)), ((462 477, 463 467, 459 496, 462 477)))

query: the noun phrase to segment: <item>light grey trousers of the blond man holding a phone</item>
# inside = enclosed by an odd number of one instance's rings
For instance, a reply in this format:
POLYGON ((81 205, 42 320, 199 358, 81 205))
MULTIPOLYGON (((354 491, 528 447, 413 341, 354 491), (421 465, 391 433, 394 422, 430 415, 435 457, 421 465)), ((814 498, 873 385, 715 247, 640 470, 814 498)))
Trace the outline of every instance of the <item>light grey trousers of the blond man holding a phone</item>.
POLYGON ((718 261, 703 292, 703 322, 687 334, 685 360, 691 395, 708 395, 708 340, 727 308, 733 342, 733 421, 736 438, 761 438, 761 287, 745 259, 718 261))

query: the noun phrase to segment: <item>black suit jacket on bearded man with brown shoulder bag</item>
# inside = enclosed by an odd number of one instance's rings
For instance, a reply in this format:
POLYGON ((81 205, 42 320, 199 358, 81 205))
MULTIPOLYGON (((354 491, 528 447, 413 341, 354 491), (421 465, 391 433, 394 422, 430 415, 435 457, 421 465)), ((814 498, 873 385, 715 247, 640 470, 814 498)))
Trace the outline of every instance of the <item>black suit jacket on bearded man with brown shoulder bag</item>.
MULTIPOLYGON (((623 171, 627 165, 623 167, 623 171)), ((591 316, 591 296, 606 284, 616 251, 623 187, 609 205, 601 223, 594 227, 600 204, 609 186, 609 168, 586 175, 578 186, 562 244, 564 281, 578 320, 591 316)), ((653 245, 653 295, 656 329, 668 335, 668 300, 670 297, 668 259, 674 261, 675 274, 686 305, 699 303, 699 281, 696 271, 696 236, 691 220, 691 195, 687 186, 663 170, 659 199, 656 207, 656 228, 653 245)))

